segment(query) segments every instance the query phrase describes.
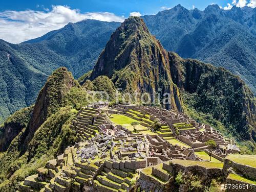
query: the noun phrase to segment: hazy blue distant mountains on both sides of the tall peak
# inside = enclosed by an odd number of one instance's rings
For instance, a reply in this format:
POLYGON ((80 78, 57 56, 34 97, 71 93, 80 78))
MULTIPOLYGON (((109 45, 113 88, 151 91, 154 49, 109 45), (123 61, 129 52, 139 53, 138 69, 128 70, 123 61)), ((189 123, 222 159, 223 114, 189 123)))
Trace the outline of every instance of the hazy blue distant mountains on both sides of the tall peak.
MULTIPOLYGON (((223 66, 256 92, 256 9, 208 6, 204 11, 178 5, 142 17, 168 51, 223 66)), ((0 122, 29 106, 47 77, 66 66, 75 78, 91 70, 118 22, 83 20, 20 44, 0 41, 0 122)))

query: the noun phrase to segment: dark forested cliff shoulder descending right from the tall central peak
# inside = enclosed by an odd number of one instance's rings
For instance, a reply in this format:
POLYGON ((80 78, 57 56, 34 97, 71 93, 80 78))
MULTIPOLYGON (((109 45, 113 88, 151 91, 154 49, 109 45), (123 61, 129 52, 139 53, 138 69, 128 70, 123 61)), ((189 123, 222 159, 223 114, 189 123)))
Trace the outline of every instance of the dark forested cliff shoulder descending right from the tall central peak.
POLYGON ((169 59, 174 83, 194 100, 191 107, 211 114, 238 138, 256 140, 253 93, 238 76, 172 52, 169 59))

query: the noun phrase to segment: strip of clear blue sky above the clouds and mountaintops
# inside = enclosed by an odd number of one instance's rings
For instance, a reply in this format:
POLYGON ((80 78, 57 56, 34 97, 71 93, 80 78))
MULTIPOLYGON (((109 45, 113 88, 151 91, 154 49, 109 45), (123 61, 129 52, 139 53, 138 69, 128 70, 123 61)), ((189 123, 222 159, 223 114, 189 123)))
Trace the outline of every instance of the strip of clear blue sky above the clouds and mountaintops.
POLYGON ((187 9, 193 9, 193 6, 200 10, 204 10, 210 4, 218 4, 219 6, 226 6, 228 0, 30 0, 30 1, 0 1, 1 11, 16 10, 24 11, 26 9, 42 10, 51 9, 52 5, 67 5, 72 9, 80 9, 81 12, 112 12, 116 15, 129 16, 130 12, 140 12, 141 14, 156 14, 161 11, 163 7, 171 8, 175 5, 181 4, 187 9))

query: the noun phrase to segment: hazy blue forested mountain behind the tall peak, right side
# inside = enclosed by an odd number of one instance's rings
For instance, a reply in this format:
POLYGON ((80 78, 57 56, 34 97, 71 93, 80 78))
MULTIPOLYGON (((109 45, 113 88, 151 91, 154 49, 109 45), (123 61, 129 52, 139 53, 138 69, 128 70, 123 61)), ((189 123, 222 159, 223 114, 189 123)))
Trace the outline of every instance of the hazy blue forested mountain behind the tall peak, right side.
POLYGON ((255 93, 255 8, 223 10, 211 5, 200 11, 178 5, 142 18, 166 50, 222 66, 239 75, 255 93))

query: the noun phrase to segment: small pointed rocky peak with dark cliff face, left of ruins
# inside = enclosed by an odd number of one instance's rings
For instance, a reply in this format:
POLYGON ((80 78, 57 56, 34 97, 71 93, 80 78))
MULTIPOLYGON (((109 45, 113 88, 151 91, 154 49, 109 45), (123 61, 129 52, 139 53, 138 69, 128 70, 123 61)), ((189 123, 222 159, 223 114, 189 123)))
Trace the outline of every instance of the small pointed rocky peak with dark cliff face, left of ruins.
POLYGON ((25 143, 28 143, 35 131, 46 121, 46 118, 54 114, 61 107, 64 95, 78 83, 65 67, 53 72, 45 86, 38 94, 32 116, 23 134, 25 143))

